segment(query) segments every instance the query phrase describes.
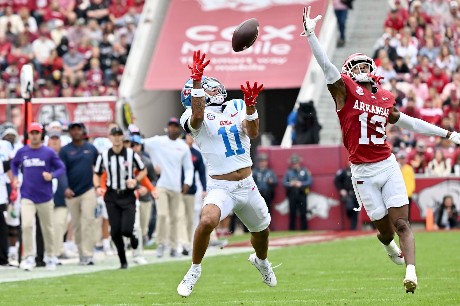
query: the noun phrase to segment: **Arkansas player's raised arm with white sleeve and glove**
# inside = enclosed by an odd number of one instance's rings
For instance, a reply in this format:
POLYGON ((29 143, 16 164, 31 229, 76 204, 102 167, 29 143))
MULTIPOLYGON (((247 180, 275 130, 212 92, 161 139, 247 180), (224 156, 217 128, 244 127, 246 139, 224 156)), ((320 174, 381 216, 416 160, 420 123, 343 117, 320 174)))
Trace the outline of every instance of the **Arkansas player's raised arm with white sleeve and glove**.
POLYGON ((310 19, 310 9, 304 8, 303 15, 303 26, 304 32, 300 34, 301 36, 306 36, 308 43, 310 44, 311 51, 313 56, 315 56, 316 61, 324 72, 324 77, 326 78, 326 83, 328 84, 328 89, 331 95, 337 102, 337 109, 342 109, 345 106, 346 101, 346 88, 345 83, 340 76, 340 72, 335 67, 331 61, 329 61, 326 52, 322 49, 321 44, 315 35, 316 22, 321 19, 321 15, 316 16, 314 19, 310 19))

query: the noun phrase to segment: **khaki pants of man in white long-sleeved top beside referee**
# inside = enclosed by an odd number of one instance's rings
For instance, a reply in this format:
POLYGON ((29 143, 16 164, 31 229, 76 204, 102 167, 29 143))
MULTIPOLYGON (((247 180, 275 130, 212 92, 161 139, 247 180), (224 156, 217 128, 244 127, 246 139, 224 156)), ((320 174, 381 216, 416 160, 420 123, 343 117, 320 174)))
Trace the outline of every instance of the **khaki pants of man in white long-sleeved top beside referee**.
POLYGON ((159 198, 156 201, 156 239, 157 244, 166 245, 170 228, 171 249, 177 250, 178 211, 182 203, 182 193, 157 188, 159 198), (169 224, 167 219, 169 218, 169 224))

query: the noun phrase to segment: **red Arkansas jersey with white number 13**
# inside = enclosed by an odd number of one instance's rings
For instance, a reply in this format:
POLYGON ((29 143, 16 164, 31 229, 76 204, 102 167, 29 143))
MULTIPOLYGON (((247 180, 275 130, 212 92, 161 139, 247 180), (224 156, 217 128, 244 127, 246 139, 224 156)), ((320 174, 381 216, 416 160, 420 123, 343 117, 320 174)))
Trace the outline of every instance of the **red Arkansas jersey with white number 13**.
POLYGON ((372 94, 345 73, 341 75, 347 98, 337 115, 345 148, 350 153, 349 160, 359 165, 387 159, 391 149, 386 143, 385 127, 396 105, 395 97, 385 89, 372 94))

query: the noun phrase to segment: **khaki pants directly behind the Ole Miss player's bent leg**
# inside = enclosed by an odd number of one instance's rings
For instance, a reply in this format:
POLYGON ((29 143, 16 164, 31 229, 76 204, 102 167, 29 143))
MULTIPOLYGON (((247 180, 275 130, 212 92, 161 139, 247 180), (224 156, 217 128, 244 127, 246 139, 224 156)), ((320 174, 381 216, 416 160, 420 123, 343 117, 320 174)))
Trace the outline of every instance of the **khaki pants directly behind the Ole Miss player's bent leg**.
POLYGON ((183 199, 184 203, 179 207, 178 211, 179 241, 182 245, 191 247, 195 232, 195 228, 193 228, 195 195, 184 195, 183 199))

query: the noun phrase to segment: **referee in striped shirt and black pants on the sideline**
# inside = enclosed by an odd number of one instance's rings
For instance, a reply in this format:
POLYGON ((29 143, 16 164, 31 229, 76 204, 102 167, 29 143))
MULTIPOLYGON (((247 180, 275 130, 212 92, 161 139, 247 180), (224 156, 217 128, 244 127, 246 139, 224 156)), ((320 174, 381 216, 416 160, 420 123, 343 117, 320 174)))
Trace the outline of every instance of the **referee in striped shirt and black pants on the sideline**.
POLYGON ((141 158, 131 148, 123 146, 123 129, 110 129, 109 139, 113 146, 104 150, 98 156, 94 167, 94 186, 96 194, 102 194, 101 178, 107 172, 107 192, 104 196, 105 206, 109 215, 110 234, 118 250, 121 269, 128 267, 125 254, 125 245, 122 236, 131 239, 133 249, 138 247, 138 238, 134 235, 134 217, 136 215, 136 196, 134 189, 139 181, 147 175, 147 170, 141 158), (134 167, 139 172, 134 176, 134 167))

